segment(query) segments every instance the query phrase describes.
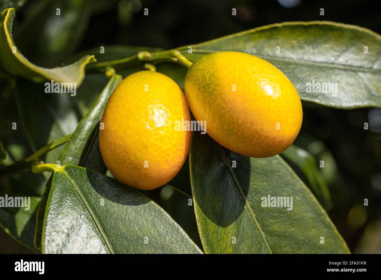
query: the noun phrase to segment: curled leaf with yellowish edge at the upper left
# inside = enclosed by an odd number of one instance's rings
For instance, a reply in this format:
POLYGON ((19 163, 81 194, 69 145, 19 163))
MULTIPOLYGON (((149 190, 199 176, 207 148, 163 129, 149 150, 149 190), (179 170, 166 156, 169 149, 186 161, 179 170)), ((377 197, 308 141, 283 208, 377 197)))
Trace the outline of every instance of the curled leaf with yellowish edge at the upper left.
POLYGON ((85 77, 86 65, 96 61, 94 56, 87 55, 73 64, 51 69, 39 67, 29 62, 13 42, 12 24, 15 14, 13 8, 6 9, 1 13, 0 66, 10 75, 23 77, 34 82, 47 79, 58 83, 76 83, 79 87, 85 77))

